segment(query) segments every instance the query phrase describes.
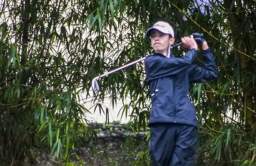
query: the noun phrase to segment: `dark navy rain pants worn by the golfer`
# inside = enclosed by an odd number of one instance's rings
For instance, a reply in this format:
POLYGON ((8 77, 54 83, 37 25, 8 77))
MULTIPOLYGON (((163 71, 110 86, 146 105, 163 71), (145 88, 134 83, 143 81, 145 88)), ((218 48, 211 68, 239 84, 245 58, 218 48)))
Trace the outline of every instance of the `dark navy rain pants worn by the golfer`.
POLYGON ((150 124, 151 166, 193 166, 197 127, 176 123, 150 124))

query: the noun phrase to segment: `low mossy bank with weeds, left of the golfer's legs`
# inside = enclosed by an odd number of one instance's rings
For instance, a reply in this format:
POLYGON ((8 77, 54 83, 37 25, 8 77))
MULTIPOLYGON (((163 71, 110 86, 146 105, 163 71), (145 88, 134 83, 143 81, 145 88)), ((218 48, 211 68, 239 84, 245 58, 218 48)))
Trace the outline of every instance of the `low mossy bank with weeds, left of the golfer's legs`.
POLYGON ((81 148, 76 150, 78 160, 76 164, 145 165, 145 159, 148 159, 148 142, 145 141, 147 132, 137 133, 135 136, 131 127, 119 122, 89 125, 95 129, 98 140, 94 141, 90 148, 83 148, 83 144, 87 144, 87 141, 81 138, 83 140, 81 148))

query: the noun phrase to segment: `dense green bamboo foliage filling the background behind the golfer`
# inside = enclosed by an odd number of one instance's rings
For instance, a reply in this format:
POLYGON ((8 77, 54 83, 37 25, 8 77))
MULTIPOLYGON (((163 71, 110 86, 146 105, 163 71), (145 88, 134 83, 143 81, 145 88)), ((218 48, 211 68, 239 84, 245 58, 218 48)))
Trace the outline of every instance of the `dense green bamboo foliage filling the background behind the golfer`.
MULTIPOLYGON (((215 53, 219 78, 190 90, 200 133, 197 163, 255 162, 255 8, 255 0, 1 2, 1 162, 33 163, 49 149, 68 163, 82 137, 96 139, 85 113, 96 106, 108 120, 106 99, 113 107, 124 103, 119 114, 130 118, 134 133, 145 130, 150 95, 143 63, 100 79, 96 94, 91 80, 151 53, 145 31, 156 20, 173 24, 176 42, 203 33, 215 53)), ((173 50, 176 57, 185 52, 173 50)), ((201 60, 199 55, 195 63, 201 60)), ((139 156, 147 163, 147 152, 139 156)))

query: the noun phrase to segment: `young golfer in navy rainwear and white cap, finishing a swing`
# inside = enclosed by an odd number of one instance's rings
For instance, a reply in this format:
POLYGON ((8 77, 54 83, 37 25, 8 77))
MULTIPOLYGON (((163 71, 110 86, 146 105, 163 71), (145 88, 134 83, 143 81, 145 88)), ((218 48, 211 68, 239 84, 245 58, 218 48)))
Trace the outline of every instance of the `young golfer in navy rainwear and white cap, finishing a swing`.
POLYGON ((146 32, 156 53, 145 59, 145 70, 152 97, 150 126, 151 166, 193 166, 197 147, 197 118, 189 99, 189 83, 207 82, 218 76, 211 49, 204 39, 204 66, 193 65, 197 57, 198 34, 183 37, 187 53, 175 58, 170 46, 174 31, 167 22, 156 22, 146 32))

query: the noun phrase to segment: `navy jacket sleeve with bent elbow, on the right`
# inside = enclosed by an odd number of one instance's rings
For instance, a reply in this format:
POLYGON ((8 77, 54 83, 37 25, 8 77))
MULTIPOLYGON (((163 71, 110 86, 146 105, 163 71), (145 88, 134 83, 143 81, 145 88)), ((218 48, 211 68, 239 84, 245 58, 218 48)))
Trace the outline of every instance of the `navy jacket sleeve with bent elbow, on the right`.
POLYGON ((218 77, 218 69, 211 49, 203 50, 204 66, 191 65, 189 67, 189 83, 207 82, 218 77))

